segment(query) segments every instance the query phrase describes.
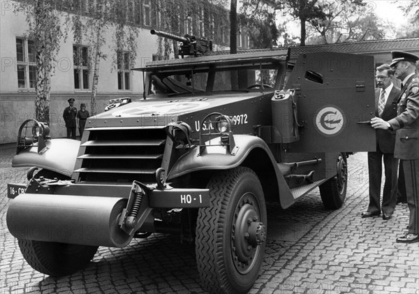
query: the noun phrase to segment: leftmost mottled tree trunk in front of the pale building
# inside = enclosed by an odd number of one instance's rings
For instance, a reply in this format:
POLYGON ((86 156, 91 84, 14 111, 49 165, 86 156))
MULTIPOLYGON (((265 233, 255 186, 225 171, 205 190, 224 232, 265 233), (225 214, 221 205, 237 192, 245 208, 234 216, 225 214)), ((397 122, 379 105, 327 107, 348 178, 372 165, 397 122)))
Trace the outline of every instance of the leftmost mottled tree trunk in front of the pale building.
POLYGON ((24 11, 29 24, 28 38, 34 41, 36 52, 35 117, 50 123, 50 90, 54 63, 57 61, 61 31, 59 11, 54 1, 22 0, 17 9, 24 11))

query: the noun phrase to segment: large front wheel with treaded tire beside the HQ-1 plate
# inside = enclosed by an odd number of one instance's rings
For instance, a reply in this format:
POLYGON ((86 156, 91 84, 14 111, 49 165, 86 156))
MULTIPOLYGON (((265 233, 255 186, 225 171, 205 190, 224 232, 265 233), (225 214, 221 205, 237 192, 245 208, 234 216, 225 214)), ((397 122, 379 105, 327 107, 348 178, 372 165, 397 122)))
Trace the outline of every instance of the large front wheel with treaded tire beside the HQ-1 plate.
POLYGON ((249 168, 214 175, 211 206, 200 208, 196 261, 210 293, 247 293, 265 253, 266 207, 262 186, 249 168))

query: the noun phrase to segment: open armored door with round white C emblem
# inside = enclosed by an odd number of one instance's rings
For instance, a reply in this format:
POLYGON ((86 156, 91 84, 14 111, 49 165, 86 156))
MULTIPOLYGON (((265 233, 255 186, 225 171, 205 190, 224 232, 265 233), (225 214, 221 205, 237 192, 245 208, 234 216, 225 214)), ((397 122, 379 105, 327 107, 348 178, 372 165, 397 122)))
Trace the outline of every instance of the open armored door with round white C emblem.
POLYGON ((296 89, 300 140, 290 152, 376 149, 374 57, 335 52, 300 54, 286 83, 296 89))

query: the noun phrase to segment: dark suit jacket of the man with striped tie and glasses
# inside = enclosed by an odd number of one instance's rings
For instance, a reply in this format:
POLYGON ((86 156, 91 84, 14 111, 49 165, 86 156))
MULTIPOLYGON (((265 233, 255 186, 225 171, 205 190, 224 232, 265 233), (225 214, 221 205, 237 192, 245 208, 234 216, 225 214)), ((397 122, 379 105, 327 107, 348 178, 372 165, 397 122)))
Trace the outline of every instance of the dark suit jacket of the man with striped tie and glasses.
MULTIPOLYGON (((380 88, 377 88, 375 91, 376 117, 378 117, 378 99, 380 97, 380 91, 380 88)), ((385 102, 383 113, 381 114, 381 118, 385 121, 389 121, 397 116, 397 99, 399 96, 400 89, 393 86, 390 94, 388 95, 387 101, 385 102)), ((376 142, 377 150, 380 150, 383 153, 395 152, 396 135, 394 132, 383 130, 381 128, 376 129, 376 142)))

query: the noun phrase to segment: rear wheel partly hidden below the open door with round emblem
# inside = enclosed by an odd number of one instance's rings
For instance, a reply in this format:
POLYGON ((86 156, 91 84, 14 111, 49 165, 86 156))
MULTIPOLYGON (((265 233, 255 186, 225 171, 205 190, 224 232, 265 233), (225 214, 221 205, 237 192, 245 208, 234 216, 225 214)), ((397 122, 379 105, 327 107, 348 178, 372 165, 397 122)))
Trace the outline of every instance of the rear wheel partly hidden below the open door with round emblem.
POLYGON ((344 204, 348 184, 348 164, 346 154, 337 154, 336 175, 319 186, 323 205, 329 210, 337 210, 344 204))

